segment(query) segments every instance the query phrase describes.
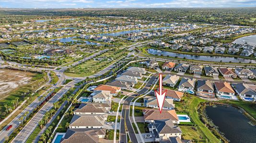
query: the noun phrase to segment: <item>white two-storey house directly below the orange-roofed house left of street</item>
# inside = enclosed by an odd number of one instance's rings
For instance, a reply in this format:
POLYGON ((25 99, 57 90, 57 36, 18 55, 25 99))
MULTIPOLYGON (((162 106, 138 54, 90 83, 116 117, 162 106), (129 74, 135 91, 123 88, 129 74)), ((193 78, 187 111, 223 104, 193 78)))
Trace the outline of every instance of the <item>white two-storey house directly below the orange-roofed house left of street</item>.
POLYGON ((93 96, 94 103, 111 103, 110 91, 94 91, 91 96, 93 96))

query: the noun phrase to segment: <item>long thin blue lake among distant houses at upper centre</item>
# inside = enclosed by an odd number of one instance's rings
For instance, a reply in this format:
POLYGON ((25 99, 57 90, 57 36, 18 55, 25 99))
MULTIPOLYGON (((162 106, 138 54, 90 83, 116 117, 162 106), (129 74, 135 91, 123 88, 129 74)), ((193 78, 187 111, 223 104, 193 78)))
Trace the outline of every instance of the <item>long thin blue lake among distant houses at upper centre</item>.
POLYGON ((113 32, 113 33, 102 33, 97 35, 98 36, 119 36, 119 35, 131 33, 131 32, 151 31, 151 30, 159 30, 159 29, 167 29, 167 28, 171 28, 171 27, 154 27, 154 28, 148 28, 148 29, 119 31, 119 32, 113 32))

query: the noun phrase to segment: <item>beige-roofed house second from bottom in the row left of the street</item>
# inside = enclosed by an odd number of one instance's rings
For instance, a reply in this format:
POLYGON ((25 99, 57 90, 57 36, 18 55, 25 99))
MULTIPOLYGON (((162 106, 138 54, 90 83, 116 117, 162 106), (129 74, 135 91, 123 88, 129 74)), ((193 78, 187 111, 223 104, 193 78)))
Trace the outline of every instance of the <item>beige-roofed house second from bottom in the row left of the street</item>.
POLYGON ((70 121, 69 128, 104 128, 104 123, 107 120, 107 114, 89 115, 89 114, 74 114, 70 121))

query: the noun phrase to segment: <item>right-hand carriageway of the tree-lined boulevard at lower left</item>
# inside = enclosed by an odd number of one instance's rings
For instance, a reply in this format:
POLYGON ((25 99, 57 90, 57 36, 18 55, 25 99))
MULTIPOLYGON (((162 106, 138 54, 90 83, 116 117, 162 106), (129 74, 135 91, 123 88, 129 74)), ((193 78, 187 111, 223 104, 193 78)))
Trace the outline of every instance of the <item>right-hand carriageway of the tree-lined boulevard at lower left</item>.
POLYGON ((74 84, 80 80, 73 81, 64 86, 57 92, 36 114, 33 118, 23 127, 20 133, 12 140, 11 143, 25 143, 31 133, 35 130, 38 122, 43 119, 44 114, 53 108, 53 103, 58 101, 74 84))

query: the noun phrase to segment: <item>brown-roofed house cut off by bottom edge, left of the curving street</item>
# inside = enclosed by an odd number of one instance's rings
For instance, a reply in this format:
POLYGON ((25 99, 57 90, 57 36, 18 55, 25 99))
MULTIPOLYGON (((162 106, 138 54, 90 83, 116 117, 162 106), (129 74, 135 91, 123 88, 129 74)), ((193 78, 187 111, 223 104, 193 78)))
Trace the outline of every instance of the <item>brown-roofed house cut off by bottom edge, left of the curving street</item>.
POLYGON ((60 143, 98 143, 105 133, 106 129, 68 129, 60 143))

